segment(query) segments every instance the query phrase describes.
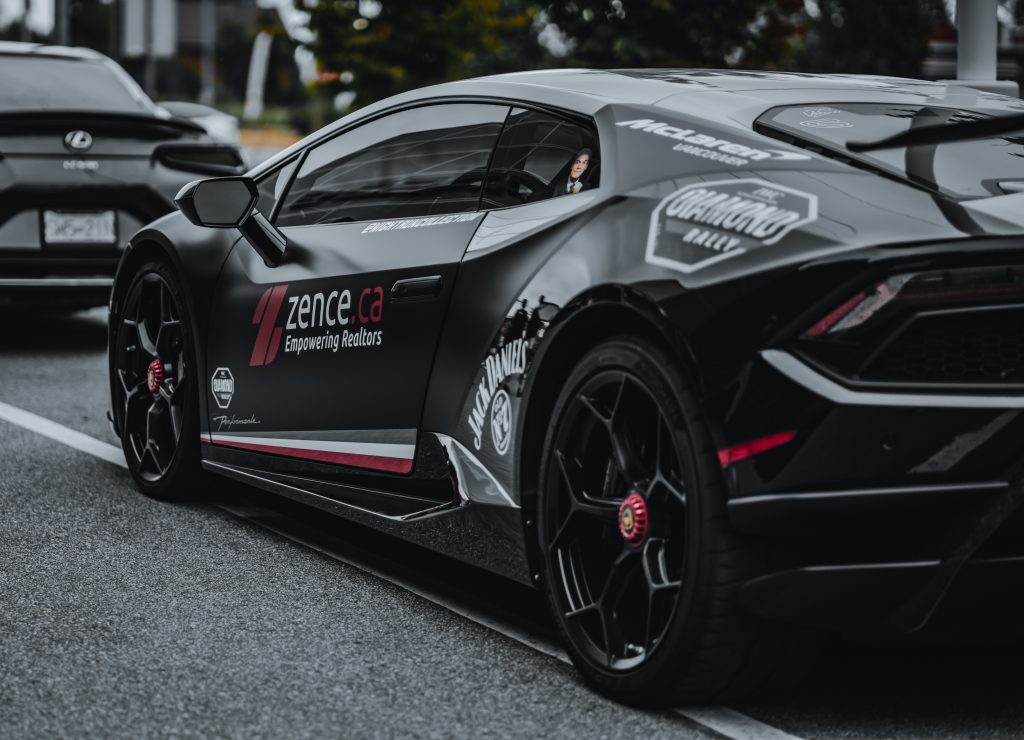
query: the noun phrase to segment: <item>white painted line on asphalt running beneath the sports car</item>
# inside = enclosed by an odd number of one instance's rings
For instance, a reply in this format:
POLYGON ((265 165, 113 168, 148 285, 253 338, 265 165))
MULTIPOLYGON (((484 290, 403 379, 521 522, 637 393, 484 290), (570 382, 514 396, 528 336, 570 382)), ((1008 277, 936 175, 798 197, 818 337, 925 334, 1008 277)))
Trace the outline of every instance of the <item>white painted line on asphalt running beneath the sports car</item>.
MULTIPOLYGON (((67 444, 69 447, 74 447, 82 452, 87 452, 95 458, 104 460, 108 463, 112 463, 121 468, 127 468, 124 452, 120 447, 116 447, 115 445, 103 442, 95 437, 90 437, 88 434, 77 432, 74 429, 63 426, 62 424, 51 422, 48 419, 44 419, 43 417, 37 416, 31 411, 26 411, 17 406, 4 403, 3 401, 0 401, 0 419, 10 422, 11 424, 24 429, 36 432, 37 434, 41 434, 44 437, 49 437, 50 439, 56 440, 62 444, 67 444)), ((508 624, 504 624, 501 621, 493 619, 488 615, 477 611, 476 609, 468 608, 444 597, 423 591, 418 585, 404 578, 397 578, 389 573, 378 570, 373 566, 369 566, 354 560, 349 560, 348 558, 344 558, 337 553, 332 553, 326 548, 319 547, 315 542, 310 542, 301 537, 297 537, 294 534, 278 529, 266 522, 250 518, 246 515, 244 508, 231 506, 221 506, 220 508, 233 516, 245 519, 247 522, 263 527, 264 529, 274 532, 275 534, 297 542, 298 545, 309 548, 310 550, 315 550, 317 553, 326 555, 329 558, 397 585, 399 589, 403 589, 409 593, 430 602, 431 604, 436 604, 437 606, 447 609, 465 619, 469 619, 472 622, 476 622, 477 624, 493 629, 500 635, 504 635, 507 638, 515 640, 526 647, 532 648, 539 653, 543 653, 544 655, 552 657, 563 663, 569 663, 569 659, 565 655, 565 652, 559 646, 549 643, 546 640, 538 639, 532 635, 516 629, 508 624)), ((730 740, 801 740, 801 738, 796 735, 790 735, 788 733, 782 732, 771 725, 765 725, 763 722, 759 722, 752 716, 742 714, 735 709, 730 709, 727 706, 680 707, 676 709, 676 712, 680 716, 684 716, 691 722, 695 722, 696 724, 708 728, 709 730, 717 732, 719 735, 730 738, 730 740)))

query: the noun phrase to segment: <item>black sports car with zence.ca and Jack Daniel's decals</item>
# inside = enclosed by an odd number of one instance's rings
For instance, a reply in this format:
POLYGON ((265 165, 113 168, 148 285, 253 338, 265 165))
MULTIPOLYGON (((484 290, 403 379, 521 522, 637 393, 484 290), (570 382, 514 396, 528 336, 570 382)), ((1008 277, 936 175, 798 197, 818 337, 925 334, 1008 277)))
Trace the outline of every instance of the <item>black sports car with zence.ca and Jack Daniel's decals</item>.
POLYGON ((135 234, 115 430, 150 495, 227 476, 536 584, 625 701, 742 694, 957 600, 994 622, 1022 112, 715 71, 384 100, 135 234))

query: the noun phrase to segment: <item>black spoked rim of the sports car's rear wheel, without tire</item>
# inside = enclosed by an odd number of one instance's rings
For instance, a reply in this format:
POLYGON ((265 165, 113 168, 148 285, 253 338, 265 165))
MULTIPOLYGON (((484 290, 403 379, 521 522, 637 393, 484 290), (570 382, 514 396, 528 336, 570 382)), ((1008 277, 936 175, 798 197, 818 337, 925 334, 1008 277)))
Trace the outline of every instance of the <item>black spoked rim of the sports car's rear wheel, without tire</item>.
POLYGON ((640 378, 610 368, 574 391, 549 474, 546 541, 565 628, 594 665, 635 668, 676 610, 686 538, 680 455, 640 378))

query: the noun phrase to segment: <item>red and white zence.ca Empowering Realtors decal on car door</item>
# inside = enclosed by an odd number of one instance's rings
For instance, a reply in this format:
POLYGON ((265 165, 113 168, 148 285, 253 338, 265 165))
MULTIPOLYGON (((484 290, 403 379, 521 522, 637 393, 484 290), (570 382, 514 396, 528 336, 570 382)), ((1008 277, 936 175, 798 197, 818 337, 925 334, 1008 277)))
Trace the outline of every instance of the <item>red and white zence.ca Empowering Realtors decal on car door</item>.
POLYGON ((286 354, 300 355, 379 347, 384 341, 383 331, 376 329, 384 314, 384 289, 380 286, 364 288, 357 295, 349 290, 297 296, 287 293, 287 285, 268 288, 256 304, 252 322, 259 324, 259 331, 250 367, 273 362, 282 344, 286 354), (279 327, 286 297, 285 325, 279 327))

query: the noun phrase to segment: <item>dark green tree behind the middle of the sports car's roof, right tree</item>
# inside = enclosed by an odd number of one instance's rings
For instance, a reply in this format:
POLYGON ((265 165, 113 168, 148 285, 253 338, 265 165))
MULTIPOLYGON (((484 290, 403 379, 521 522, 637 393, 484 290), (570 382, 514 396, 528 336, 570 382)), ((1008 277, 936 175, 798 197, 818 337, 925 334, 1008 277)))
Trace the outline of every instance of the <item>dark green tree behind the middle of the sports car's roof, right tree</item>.
POLYGON ((545 10, 591 68, 787 63, 806 20, 803 0, 561 0, 545 10))

